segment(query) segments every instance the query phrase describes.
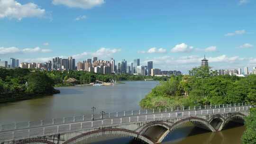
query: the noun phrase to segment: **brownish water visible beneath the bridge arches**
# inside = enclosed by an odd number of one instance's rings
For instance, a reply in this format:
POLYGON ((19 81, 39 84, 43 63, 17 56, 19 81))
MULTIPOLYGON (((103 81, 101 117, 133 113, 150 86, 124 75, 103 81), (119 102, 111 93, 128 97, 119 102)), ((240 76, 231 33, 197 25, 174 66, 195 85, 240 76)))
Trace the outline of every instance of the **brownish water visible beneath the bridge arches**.
MULTIPOLYGON (((229 123, 221 132, 209 132, 195 126, 183 126, 169 133, 162 144, 241 144, 245 126, 229 123)), ((146 144, 132 137, 102 136, 79 144, 146 144)))

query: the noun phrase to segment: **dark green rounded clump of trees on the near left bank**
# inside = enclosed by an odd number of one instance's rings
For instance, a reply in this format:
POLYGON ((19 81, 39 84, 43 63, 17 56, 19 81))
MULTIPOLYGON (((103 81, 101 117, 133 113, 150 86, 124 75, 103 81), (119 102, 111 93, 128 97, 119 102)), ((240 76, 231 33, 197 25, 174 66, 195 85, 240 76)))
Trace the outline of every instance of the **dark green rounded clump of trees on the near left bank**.
POLYGON ((44 72, 0 68, 0 103, 59 93, 44 72))

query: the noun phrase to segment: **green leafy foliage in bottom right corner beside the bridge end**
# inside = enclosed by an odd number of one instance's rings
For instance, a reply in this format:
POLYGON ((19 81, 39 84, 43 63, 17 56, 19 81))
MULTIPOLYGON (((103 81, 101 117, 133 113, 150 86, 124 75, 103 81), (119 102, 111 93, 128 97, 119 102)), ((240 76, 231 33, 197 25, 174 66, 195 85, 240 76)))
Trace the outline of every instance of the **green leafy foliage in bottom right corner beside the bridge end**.
POLYGON ((245 118, 246 131, 242 136, 242 144, 256 144, 256 108, 250 109, 250 115, 245 118))

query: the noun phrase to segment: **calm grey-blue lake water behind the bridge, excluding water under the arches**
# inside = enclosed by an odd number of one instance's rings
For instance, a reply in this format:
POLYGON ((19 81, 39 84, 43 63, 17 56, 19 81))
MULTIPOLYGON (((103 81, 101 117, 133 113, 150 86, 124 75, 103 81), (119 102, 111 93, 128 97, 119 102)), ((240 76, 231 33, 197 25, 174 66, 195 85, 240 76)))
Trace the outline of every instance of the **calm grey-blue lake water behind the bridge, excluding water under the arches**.
MULTIPOLYGON (((61 87, 54 96, 0 104, 0 124, 91 115, 91 107, 116 112, 140 109, 139 101, 158 81, 125 81, 114 86, 61 87)), ((91 117, 91 116, 90 116, 91 117)))

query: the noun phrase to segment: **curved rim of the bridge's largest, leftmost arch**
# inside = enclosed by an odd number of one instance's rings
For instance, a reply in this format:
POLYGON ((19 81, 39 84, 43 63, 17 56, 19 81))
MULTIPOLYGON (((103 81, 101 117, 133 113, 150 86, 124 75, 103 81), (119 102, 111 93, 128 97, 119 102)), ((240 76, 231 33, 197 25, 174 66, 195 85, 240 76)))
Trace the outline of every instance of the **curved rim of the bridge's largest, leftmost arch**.
POLYGON ((79 141, 82 141, 86 138, 89 138, 93 135, 105 135, 105 134, 123 134, 127 136, 132 136, 138 139, 143 140, 147 144, 155 144, 152 140, 150 140, 149 137, 146 137, 144 135, 140 135, 139 133, 135 131, 131 131, 128 129, 122 129, 122 128, 106 128, 106 129, 99 129, 87 133, 83 133, 81 135, 74 136, 73 138, 65 141, 63 144, 75 144, 79 141))

